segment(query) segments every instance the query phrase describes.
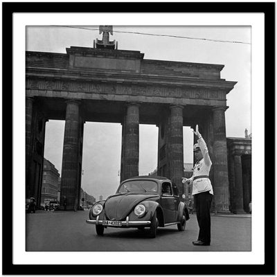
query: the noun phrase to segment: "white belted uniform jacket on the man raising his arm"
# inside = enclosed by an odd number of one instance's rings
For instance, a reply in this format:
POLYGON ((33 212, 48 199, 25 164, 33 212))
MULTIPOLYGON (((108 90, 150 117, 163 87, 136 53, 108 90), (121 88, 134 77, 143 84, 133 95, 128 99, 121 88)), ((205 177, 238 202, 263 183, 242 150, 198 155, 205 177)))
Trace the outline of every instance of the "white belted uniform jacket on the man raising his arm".
POLYGON ((204 193, 208 191, 213 195, 213 186, 211 180, 208 178, 195 179, 197 176, 206 175, 208 176, 211 170, 212 162, 210 156, 208 155, 208 148, 203 138, 197 141, 199 148, 202 152, 203 159, 195 163, 193 168, 193 176, 188 179, 191 184, 193 182, 193 195, 197 193, 204 193))

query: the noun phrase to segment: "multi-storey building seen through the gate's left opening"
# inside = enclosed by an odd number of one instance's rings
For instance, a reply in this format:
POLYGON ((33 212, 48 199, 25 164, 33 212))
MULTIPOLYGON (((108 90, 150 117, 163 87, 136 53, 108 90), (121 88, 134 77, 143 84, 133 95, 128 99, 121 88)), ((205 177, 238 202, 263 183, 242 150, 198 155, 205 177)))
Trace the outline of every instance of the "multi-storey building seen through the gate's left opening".
POLYGON ((51 163, 44 159, 44 166, 42 172, 42 196, 40 205, 45 206, 49 205, 50 201, 59 202, 59 179, 60 173, 57 168, 51 163))

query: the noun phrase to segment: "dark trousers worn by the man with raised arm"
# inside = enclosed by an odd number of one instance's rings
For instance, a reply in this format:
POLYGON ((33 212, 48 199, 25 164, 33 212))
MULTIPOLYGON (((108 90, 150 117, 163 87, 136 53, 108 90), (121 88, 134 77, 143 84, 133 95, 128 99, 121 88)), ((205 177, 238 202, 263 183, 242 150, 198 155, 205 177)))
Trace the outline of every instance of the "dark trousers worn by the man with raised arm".
POLYGON ((198 193, 195 197, 195 209, 197 215, 197 222, 199 225, 198 240, 202 242, 211 242, 211 203, 213 195, 208 191, 205 193, 198 193))

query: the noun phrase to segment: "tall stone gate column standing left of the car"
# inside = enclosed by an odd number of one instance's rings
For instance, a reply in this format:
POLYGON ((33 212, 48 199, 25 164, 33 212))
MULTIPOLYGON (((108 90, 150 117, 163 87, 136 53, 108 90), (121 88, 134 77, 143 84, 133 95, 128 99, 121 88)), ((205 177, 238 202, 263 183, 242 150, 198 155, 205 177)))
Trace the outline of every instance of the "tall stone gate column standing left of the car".
POLYGON ((66 199, 66 209, 71 211, 77 210, 78 197, 79 105, 75 100, 66 101, 60 202, 63 208, 66 199))

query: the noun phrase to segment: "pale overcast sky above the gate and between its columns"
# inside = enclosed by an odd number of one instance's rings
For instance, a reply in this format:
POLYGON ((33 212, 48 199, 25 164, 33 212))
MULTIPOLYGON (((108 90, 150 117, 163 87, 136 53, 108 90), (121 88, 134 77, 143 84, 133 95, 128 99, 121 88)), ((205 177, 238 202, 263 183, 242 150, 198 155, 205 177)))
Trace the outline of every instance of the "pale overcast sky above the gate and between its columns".
MULTIPOLYGON (((26 50, 66 53, 66 47, 93 47, 93 39, 102 39, 99 26, 83 26, 96 30, 66 27, 26 28, 26 50)), ((145 59, 179 62, 224 64, 221 78, 238 82, 227 95, 226 136, 244 137, 251 133, 251 27, 239 26, 114 26, 110 40, 118 41, 118 49, 144 53, 145 59), (183 37, 245 42, 247 44, 212 42, 203 39, 159 37, 116 31, 176 35, 183 37)), ((194 126, 193 126, 194 127, 194 126)), ((148 175, 157 168, 158 129, 140 125, 139 174, 148 175)), ((61 173, 64 121, 46 123, 44 157, 61 173)), ((192 163, 193 134, 184 127, 184 162, 192 163)), ((84 124, 82 188, 96 199, 115 192, 120 177, 121 125, 116 123, 84 124)))

